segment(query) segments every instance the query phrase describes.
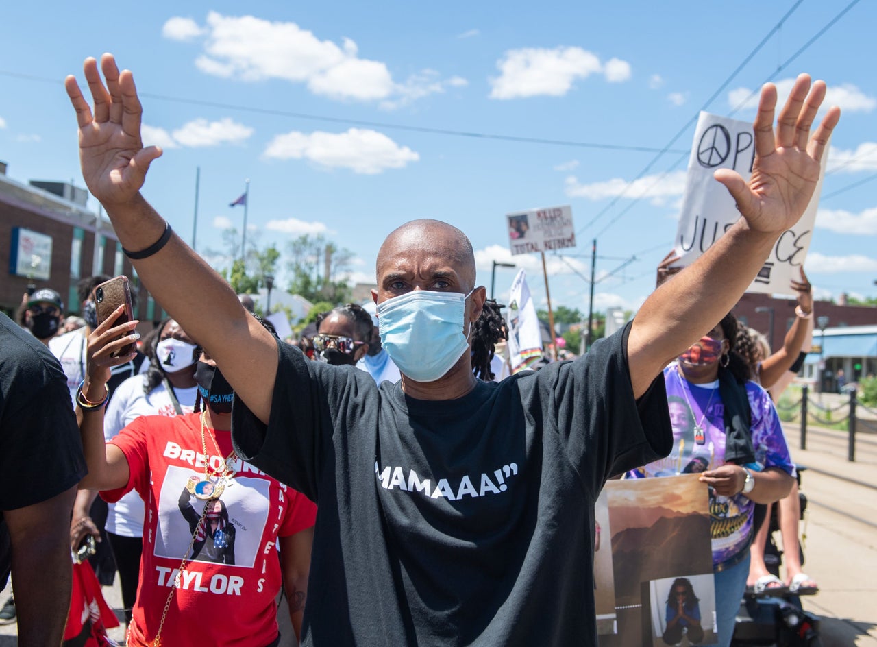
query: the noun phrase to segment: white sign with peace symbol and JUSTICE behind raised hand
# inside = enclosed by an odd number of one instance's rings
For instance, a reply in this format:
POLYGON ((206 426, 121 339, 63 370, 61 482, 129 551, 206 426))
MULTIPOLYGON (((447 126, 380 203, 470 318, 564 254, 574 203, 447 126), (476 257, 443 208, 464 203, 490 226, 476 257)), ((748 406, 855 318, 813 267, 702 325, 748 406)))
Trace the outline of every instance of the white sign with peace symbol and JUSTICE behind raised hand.
MULTIPOLYGON (((715 171, 730 168, 748 181, 754 160, 751 123, 701 112, 688 158, 685 195, 674 238, 674 252, 681 258, 675 267, 691 265, 740 217, 728 189, 713 177, 715 171)), ((794 227, 781 234, 748 292, 790 294, 789 284, 800 279, 799 268, 812 238, 827 161, 828 146, 807 210, 794 227)))

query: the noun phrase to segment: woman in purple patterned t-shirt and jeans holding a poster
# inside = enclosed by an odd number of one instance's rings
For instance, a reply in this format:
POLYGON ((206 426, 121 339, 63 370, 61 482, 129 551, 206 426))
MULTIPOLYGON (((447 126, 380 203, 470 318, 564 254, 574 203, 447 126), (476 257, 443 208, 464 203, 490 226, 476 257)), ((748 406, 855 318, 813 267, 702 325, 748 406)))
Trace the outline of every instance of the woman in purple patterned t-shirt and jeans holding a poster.
MULTIPOLYGON (((735 350, 737 318, 724 316, 706 336, 664 369, 670 396, 681 398, 695 421, 694 442, 682 448, 674 474, 695 459, 709 486, 710 532, 716 582, 718 643, 731 644, 746 587, 756 503, 777 501, 792 487, 780 418, 770 395, 750 380, 735 350)), ((627 473, 628 478, 666 476, 665 460, 627 473)))

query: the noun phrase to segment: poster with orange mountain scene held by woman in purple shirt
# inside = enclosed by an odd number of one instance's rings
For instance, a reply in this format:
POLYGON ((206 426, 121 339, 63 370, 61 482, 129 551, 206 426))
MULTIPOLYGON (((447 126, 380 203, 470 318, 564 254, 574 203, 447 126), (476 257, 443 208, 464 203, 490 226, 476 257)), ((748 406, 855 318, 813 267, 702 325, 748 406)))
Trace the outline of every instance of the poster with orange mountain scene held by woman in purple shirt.
POLYGON ((698 479, 697 474, 683 474, 610 480, 603 488, 609 503, 610 533, 601 537, 601 546, 605 542, 612 550, 617 632, 601 634, 601 647, 662 644, 669 591, 665 583, 680 578, 697 582, 705 636, 702 644, 716 642, 709 492, 698 479), (660 601, 655 596, 662 591, 660 601), (665 616, 663 628, 660 622, 653 622, 654 613, 665 616))

